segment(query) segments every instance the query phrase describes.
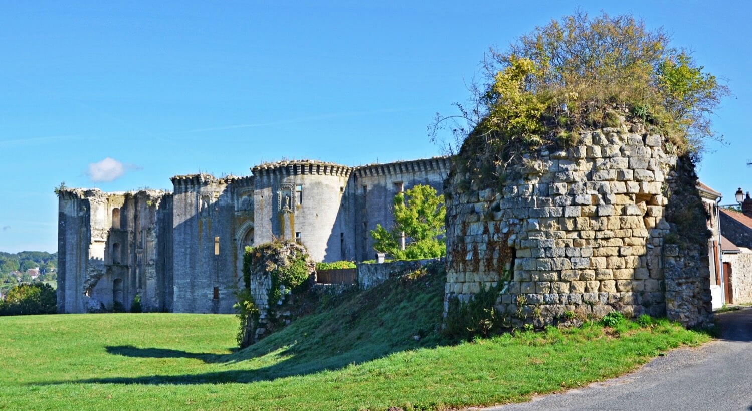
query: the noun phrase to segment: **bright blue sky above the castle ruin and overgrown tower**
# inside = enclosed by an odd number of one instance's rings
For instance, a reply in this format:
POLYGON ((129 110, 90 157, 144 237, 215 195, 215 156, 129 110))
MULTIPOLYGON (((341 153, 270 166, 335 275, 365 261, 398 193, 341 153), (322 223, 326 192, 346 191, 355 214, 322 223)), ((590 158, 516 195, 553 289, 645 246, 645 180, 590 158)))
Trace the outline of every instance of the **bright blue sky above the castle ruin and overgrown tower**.
POLYGON ((426 126, 468 98, 484 51, 577 7, 663 26, 726 78, 727 145, 699 176, 724 204, 752 191, 746 2, 2 2, 0 251, 56 250, 61 181, 437 156, 426 126))

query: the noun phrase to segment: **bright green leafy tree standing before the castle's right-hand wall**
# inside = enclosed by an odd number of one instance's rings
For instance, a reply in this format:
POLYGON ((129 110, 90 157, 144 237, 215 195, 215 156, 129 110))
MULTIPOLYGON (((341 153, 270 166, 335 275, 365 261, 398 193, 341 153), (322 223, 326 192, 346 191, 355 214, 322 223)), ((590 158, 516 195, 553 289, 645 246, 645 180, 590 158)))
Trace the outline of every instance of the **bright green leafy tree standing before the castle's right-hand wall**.
POLYGON ((399 193, 393 201, 394 225, 371 230, 374 249, 396 259, 434 258, 447 254, 444 243, 444 195, 431 186, 418 185, 399 193), (409 243, 402 249, 402 238, 409 243))

